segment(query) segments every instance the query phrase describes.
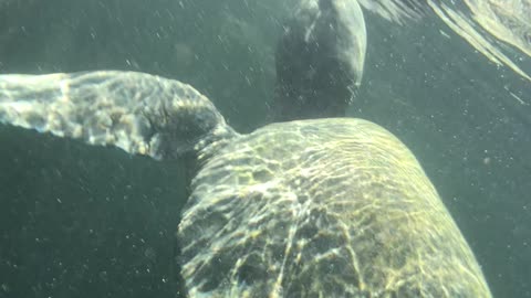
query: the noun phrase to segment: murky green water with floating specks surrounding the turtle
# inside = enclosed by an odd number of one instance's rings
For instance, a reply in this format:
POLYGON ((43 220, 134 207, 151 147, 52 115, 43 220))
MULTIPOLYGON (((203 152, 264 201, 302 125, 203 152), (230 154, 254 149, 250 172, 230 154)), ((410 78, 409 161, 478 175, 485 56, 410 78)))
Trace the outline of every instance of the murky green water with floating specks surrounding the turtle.
MULTIPOLYGON (((0 0, 0 73, 158 74, 247 132, 267 123, 289 11, 280 0, 0 0)), ((348 116, 412 149, 494 297, 531 297, 531 82, 435 17, 365 18, 348 116)), ((529 73, 531 58, 512 54, 529 73)), ((0 297, 183 297, 174 235, 186 195, 178 162, 0 126, 0 297)))

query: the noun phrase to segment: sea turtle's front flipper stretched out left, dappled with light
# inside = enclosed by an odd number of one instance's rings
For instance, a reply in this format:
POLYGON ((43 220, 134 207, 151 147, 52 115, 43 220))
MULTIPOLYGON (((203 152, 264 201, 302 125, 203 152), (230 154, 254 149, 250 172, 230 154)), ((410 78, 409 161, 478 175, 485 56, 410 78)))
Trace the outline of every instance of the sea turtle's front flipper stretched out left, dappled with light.
POLYGON ((115 71, 0 75, 0 123, 156 159, 236 134, 194 87, 115 71))

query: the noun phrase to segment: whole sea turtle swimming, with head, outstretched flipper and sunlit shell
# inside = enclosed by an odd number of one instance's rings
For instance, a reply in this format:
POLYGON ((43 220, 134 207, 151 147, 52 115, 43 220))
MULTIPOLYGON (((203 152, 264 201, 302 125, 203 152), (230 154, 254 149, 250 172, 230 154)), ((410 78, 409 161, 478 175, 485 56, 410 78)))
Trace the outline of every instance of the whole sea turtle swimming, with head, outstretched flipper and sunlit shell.
MULTIPOLYGON (((337 18, 336 4, 346 2, 331 3, 320 9, 337 18)), ((303 24, 304 38, 340 38, 320 28, 330 22, 303 24)), ((326 41, 332 46, 316 46, 321 52, 299 62, 332 53, 337 67, 280 68, 280 76, 354 74, 340 51, 355 41, 326 41)), ((336 83, 309 93, 308 82, 315 81, 278 82, 289 91, 275 99, 279 118, 291 117, 293 107, 294 118, 341 113, 327 105, 343 103, 345 89, 340 102, 327 94, 313 102, 336 83)), ((335 87, 346 88, 356 77, 341 82, 335 87)), ((294 120, 241 135, 189 85, 100 71, 0 75, 0 123, 155 159, 185 158, 192 178, 177 237, 189 297, 491 297, 415 156, 371 121, 294 120)))

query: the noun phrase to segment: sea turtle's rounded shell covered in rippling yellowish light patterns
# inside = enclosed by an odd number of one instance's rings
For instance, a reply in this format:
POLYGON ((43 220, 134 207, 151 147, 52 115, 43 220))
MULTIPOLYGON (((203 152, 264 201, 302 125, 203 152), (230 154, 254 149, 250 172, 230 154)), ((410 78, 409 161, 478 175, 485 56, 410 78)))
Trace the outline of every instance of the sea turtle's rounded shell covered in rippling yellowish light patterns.
POLYGON ((491 297, 415 156, 384 128, 280 123, 218 149, 199 155, 177 233, 190 297, 491 297))

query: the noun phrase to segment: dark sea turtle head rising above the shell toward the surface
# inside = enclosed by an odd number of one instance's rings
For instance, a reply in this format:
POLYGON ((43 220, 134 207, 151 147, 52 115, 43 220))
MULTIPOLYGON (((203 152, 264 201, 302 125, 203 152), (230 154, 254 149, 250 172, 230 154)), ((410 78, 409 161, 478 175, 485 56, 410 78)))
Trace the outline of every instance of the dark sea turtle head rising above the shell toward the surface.
POLYGON ((277 46, 275 121, 344 116, 361 84, 366 30, 356 0, 304 0, 277 46))

